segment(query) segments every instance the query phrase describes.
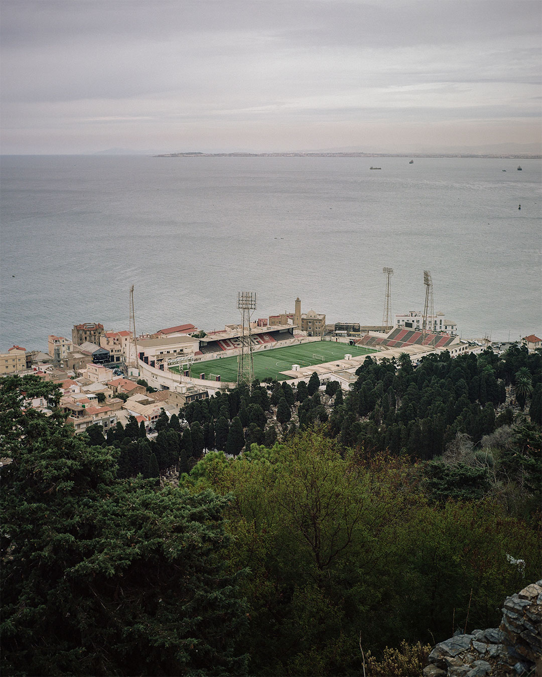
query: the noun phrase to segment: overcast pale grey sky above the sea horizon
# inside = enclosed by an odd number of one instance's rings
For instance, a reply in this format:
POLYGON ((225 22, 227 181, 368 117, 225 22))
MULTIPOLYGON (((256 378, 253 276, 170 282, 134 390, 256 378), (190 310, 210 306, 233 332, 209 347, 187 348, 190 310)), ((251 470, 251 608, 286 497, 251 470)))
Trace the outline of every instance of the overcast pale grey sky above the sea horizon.
POLYGON ((1 152, 535 144, 539 0, 1 0, 1 152))

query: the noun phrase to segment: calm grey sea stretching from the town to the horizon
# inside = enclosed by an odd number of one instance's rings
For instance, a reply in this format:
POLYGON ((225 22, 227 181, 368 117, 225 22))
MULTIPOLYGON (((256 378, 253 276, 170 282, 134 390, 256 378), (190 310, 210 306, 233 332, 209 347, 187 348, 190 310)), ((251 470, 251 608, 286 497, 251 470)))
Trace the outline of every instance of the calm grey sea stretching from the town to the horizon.
POLYGON ((301 309, 380 324, 434 308, 464 337, 541 336, 541 163, 466 158, 4 156, 0 349, 301 309), (381 167, 370 171, 371 165, 381 167), (506 172, 502 170, 506 169, 506 172), (521 204, 521 210, 518 210, 521 204))

